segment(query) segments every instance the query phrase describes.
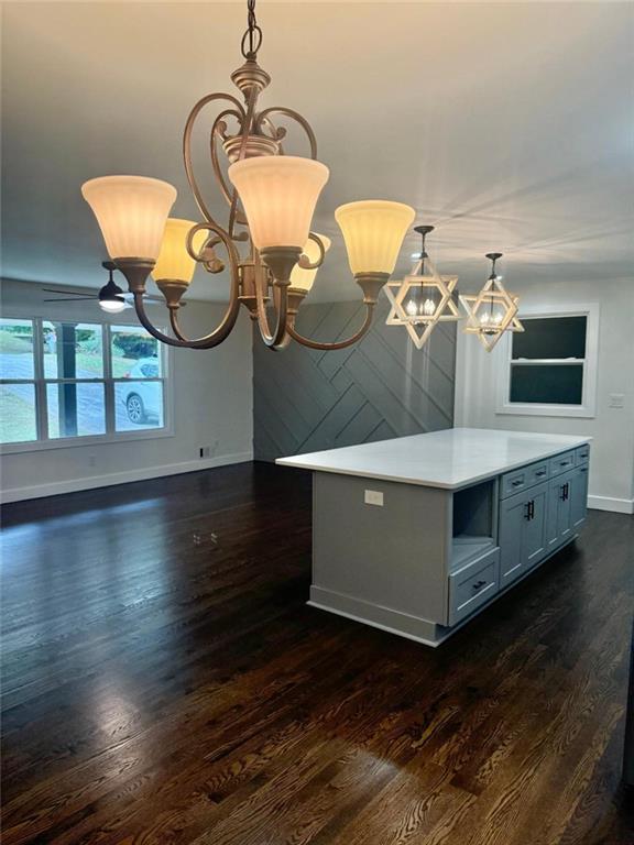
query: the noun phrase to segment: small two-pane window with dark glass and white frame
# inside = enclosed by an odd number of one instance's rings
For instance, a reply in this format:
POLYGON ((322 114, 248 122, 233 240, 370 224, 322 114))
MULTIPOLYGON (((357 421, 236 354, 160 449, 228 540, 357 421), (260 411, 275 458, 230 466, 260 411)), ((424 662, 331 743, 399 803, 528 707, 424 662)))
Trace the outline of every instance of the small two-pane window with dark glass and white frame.
POLYGON ((592 417, 598 306, 521 315, 509 332, 498 413, 592 417))

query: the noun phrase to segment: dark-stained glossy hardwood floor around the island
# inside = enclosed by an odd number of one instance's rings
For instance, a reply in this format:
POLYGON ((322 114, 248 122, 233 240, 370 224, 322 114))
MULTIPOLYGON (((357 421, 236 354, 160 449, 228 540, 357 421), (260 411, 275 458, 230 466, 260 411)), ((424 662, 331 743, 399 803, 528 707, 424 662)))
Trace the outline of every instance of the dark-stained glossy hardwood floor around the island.
POLYGON ((2 842, 631 845, 633 558, 591 512, 431 650, 306 606, 300 472, 7 506, 2 842))

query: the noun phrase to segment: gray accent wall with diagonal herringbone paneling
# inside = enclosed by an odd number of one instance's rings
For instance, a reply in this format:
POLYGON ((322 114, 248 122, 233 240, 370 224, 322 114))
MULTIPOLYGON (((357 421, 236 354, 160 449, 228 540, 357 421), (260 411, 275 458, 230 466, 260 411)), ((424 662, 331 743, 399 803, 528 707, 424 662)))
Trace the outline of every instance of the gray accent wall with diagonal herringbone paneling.
MULTIPOLYGON (((271 352, 254 328, 255 460, 452 427, 456 325, 437 326, 417 350, 405 329, 385 326, 386 316, 383 300, 363 340, 334 352, 295 342, 271 352)), ((358 303, 306 303, 297 329, 334 341, 352 334, 362 320, 358 303)))

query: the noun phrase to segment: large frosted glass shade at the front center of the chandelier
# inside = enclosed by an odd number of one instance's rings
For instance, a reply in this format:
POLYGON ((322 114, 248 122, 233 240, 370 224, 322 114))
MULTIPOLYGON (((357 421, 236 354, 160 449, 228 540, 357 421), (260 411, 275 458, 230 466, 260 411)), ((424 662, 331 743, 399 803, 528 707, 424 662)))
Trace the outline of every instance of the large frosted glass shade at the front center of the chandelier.
POLYGON ((267 155, 236 162, 228 174, 256 249, 304 246, 330 175, 325 164, 295 155, 267 155))

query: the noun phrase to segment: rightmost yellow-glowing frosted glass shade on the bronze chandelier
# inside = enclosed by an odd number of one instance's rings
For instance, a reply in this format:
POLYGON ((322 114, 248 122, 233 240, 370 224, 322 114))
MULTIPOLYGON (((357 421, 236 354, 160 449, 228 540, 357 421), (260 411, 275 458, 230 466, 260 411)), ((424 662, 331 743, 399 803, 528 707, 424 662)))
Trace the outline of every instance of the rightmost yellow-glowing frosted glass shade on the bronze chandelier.
POLYGON ((398 250, 415 211, 403 202, 368 199, 335 211, 352 274, 394 272, 398 250))

